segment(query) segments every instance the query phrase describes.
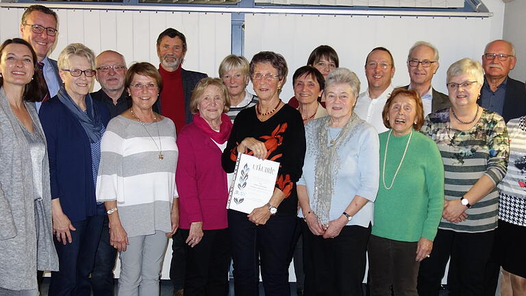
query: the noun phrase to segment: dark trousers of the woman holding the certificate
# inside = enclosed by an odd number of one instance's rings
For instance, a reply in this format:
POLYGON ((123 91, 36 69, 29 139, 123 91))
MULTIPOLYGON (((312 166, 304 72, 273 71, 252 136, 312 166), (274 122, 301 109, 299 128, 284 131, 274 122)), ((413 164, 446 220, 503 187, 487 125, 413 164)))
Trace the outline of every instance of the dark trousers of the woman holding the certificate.
POLYGON ((258 296, 259 270, 266 296, 290 296, 288 267, 296 227, 292 214, 271 216, 265 225, 255 225, 247 214, 228 211, 234 292, 236 296, 258 296))

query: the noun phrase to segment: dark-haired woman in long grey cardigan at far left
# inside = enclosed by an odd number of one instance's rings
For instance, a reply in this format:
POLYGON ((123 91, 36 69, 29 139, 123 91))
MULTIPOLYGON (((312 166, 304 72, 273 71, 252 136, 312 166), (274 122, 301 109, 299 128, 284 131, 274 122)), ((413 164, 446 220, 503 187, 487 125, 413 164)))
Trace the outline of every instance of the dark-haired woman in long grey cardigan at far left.
POLYGON ((0 295, 38 295, 37 269, 58 270, 46 140, 32 103, 45 91, 37 69, 29 43, 0 46, 0 295))

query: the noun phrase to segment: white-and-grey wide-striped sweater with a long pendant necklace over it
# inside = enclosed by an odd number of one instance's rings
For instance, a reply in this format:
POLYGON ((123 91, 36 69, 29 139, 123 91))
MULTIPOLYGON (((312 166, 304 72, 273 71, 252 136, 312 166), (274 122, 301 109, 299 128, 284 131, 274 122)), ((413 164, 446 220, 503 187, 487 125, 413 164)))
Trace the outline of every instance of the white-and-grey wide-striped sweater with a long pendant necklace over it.
POLYGON ((97 201, 117 201, 128 236, 171 231, 177 154, 175 125, 167 117, 142 125, 119 115, 108 123, 101 142, 97 201))

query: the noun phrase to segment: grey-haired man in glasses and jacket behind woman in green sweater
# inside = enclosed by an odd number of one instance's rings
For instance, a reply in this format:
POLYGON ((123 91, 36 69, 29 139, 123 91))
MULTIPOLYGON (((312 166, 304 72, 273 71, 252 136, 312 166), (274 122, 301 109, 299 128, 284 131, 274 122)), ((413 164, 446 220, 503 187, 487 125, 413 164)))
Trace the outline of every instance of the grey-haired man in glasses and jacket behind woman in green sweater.
POLYGON ((431 80, 438 70, 438 49, 425 41, 416 42, 408 54, 408 71, 411 82, 405 89, 414 89, 422 98, 424 116, 451 106, 449 97, 436 91, 431 80))

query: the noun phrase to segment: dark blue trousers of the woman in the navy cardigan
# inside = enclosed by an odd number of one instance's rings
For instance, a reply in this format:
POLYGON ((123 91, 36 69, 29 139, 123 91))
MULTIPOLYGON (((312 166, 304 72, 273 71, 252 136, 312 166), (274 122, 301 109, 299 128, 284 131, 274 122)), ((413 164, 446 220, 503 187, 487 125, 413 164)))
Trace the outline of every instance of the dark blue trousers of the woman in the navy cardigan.
POLYGON ((51 272, 49 296, 90 296, 89 276, 95 262, 105 214, 104 205, 99 205, 96 216, 71 222, 76 229, 71 231, 71 243, 63 245, 54 238, 60 267, 59 271, 51 272))

